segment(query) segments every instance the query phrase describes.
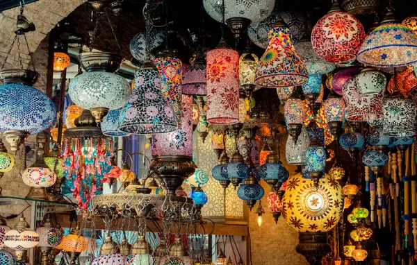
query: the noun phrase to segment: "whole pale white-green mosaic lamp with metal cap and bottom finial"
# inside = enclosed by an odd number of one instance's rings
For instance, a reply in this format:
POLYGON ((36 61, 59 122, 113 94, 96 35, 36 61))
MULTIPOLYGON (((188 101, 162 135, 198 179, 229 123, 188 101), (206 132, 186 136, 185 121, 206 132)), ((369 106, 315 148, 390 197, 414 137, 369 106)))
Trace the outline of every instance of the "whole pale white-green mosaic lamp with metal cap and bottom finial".
POLYGON ((88 52, 78 55, 83 74, 72 79, 68 93, 72 101, 84 110, 90 110, 101 123, 108 110, 124 107, 132 89, 125 78, 113 74, 122 63, 122 57, 113 53, 88 52))

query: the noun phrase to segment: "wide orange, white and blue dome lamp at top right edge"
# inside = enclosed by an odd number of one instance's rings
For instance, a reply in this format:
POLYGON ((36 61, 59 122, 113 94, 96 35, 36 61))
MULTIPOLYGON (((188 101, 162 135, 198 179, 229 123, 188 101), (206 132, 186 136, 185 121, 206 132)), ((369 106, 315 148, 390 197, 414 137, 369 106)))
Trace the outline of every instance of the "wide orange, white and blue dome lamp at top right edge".
POLYGON ((417 35, 389 10, 363 42, 357 60, 372 67, 401 67, 417 62, 417 35))

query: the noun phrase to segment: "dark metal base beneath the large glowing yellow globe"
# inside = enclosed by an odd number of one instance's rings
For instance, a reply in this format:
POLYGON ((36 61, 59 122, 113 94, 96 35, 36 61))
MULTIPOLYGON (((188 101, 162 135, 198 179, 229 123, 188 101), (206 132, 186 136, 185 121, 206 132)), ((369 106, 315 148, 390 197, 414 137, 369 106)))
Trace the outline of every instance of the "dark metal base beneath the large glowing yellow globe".
POLYGON ((332 251, 332 248, 327 243, 326 232, 299 232, 295 251, 306 257, 309 264, 321 265, 322 257, 332 251))

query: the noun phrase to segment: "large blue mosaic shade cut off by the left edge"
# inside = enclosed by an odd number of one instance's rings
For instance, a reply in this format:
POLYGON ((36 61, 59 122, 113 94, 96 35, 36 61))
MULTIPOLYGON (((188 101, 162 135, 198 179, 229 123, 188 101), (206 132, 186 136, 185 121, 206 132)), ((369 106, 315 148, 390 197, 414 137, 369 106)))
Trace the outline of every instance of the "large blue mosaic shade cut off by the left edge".
POLYGON ((35 135, 51 127, 56 109, 49 97, 35 87, 0 85, 0 130, 23 130, 35 135))

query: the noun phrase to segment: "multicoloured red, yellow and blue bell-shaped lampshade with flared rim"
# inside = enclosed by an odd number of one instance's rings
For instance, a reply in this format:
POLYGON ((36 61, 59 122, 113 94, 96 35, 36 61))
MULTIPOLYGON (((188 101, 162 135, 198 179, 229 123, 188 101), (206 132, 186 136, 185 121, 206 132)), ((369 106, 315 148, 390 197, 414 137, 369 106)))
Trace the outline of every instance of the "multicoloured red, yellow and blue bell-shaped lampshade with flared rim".
POLYGON ((268 47, 256 68, 255 83, 262 87, 290 87, 308 80, 304 62, 291 40, 291 31, 278 20, 269 33, 268 47))

